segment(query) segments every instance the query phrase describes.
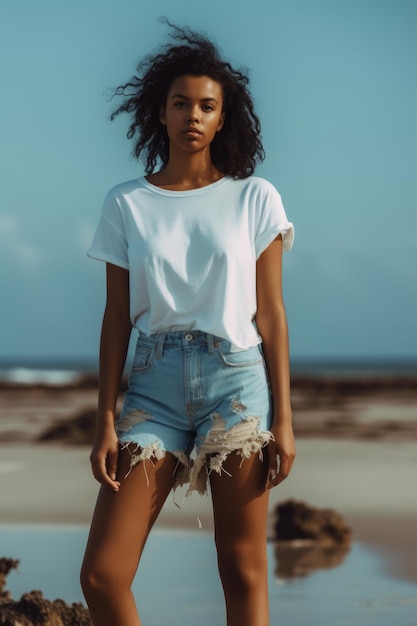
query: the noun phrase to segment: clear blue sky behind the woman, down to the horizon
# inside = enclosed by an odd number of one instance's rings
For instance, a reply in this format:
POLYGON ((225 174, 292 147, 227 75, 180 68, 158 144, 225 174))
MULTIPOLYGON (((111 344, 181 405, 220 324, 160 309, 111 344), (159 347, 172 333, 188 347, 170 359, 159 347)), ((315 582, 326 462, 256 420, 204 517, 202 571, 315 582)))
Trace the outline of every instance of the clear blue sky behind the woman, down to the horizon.
POLYGON ((291 354, 417 354, 414 0, 2 0, 0 361, 94 360, 106 192, 143 174, 111 88, 167 39, 205 31, 248 68, 266 160, 294 222, 291 354))

